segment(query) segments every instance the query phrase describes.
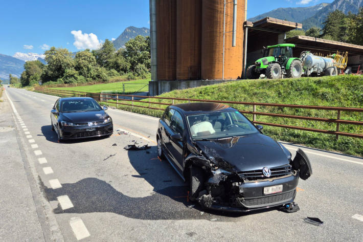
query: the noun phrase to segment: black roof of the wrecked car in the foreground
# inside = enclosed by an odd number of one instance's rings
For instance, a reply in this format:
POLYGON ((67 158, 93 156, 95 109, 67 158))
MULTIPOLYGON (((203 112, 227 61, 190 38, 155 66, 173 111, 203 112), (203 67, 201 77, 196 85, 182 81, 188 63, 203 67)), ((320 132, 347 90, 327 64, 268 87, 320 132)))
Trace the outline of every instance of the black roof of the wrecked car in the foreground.
POLYGON ((236 109, 215 102, 190 102, 190 103, 180 103, 174 104, 170 107, 178 110, 180 113, 184 115, 192 115, 192 114, 201 114, 201 113, 210 113, 214 111, 236 111, 236 109))

